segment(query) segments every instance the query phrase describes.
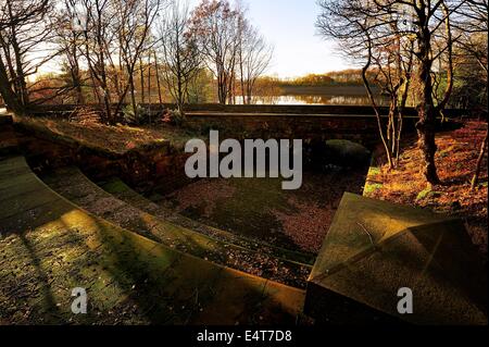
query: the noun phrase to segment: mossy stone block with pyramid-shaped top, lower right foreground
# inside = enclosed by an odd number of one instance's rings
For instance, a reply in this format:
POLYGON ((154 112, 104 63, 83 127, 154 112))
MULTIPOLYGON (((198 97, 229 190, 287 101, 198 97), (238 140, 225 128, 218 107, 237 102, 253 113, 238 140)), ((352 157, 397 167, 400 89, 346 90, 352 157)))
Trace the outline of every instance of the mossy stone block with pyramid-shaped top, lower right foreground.
POLYGON ((333 294, 415 324, 487 324, 480 263, 462 221, 346 194, 310 275, 305 311, 327 319, 324 297, 333 294), (412 314, 398 312, 405 287, 412 314))

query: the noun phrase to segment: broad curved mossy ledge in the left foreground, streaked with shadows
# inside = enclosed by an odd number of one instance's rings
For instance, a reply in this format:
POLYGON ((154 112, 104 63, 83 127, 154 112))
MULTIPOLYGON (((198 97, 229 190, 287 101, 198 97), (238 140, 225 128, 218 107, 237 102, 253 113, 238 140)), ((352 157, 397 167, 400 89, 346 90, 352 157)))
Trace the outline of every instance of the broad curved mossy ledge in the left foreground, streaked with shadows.
POLYGON ((294 323, 302 309, 302 290, 92 216, 22 157, 0 161, 0 324, 294 323), (87 314, 72 313, 75 287, 87 290, 87 314))

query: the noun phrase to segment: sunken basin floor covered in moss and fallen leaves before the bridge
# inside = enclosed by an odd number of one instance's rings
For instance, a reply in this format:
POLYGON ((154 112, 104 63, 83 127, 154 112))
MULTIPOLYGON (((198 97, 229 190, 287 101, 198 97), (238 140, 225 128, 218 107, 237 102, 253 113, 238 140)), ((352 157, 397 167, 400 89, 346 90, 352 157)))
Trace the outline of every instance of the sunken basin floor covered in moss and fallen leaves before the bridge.
POLYGON ((314 262, 343 193, 360 193, 363 182, 363 171, 331 169, 304 171, 297 190, 281 189, 281 177, 209 178, 150 198, 239 237, 309 253, 314 262))

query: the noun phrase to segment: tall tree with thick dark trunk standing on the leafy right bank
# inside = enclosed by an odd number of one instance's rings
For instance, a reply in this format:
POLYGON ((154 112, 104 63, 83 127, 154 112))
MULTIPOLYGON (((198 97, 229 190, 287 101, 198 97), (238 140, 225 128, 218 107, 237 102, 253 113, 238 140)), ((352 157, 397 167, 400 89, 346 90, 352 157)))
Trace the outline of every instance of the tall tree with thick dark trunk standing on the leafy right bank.
MULTIPOLYGON (((392 17, 392 14, 405 17, 409 28, 402 30, 401 35, 391 36, 392 30, 388 35, 393 37, 394 41, 405 40, 406 38, 413 41, 412 52, 415 57, 414 64, 416 67, 413 69, 413 72, 415 72, 419 84, 419 101, 417 104, 419 121, 416 128, 419 149, 424 158, 422 173, 426 181, 431 184, 439 183, 435 163, 437 117, 442 114, 453 88, 453 37, 450 21, 453 13, 463 3, 463 0, 451 1, 450 3, 443 0, 340 0, 322 2, 327 9, 337 12, 337 18, 341 22, 335 23, 326 16, 319 16, 319 27, 323 21, 326 24, 324 25, 326 34, 347 42, 346 46, 353 48, 353 51, 356 47, 356 53, 369 52, 371 58, 377 48, 378 39, 388 37, 383 33, 390 25, 389 23, 399 23, 399 18, 392 17), (336 10, 335 5, 344 9, 344 11, 336 10), (343 27, 343 25, 351 25, 352 27, 343 27), (434 62, 439 59, 443 59, 443 70, 447 73, 444 90, 436 102, 437 82, 434 76, 436 76, 437 71, 434 62)), ((366 67, 371 64, 372 60, 368 62, 367 58, 366 67)), ((384 142, 386 146, 387 141, 384 140, 384 142)))

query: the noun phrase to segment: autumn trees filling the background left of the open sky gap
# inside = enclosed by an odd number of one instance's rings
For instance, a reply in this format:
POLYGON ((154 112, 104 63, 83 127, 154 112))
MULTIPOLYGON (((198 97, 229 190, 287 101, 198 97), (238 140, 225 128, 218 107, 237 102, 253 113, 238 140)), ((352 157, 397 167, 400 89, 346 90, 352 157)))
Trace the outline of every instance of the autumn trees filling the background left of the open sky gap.
POLYGON ((178 109, 214 95, 248 102, 273 52, 246 8, 227 1, 190 12, 173 0, 2 0, 0 11, 1 95, 20 113, 99 103, 115 123, 168 97, 178 109), (55 72, 40 75, 43 66, 55 72))

